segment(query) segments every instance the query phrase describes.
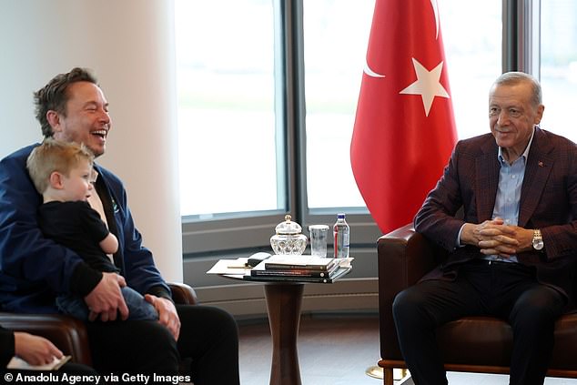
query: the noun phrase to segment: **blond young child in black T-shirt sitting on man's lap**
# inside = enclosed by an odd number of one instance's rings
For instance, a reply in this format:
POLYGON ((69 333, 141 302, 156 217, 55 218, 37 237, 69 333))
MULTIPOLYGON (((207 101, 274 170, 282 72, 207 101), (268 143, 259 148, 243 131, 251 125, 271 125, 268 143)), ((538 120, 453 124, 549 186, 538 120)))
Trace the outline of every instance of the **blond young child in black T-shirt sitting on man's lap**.
MULTIPOLYGON (((74 250, 90 268, 119 273, 106 255, 116 252, 118 240, 87 202, 94 188, 93 162, 92 152, 84 145, 47 138, 35 147, 26 167, 44 198, 38 208, 38 224, 46 238, 74 250)), ((136 290, 127 286, 121 290, 128 319, 158 319, 157 310, 136 290)), ((65 314, 88 319, 90 310, 78 296, 61 294, 56 305, 65 314)))

